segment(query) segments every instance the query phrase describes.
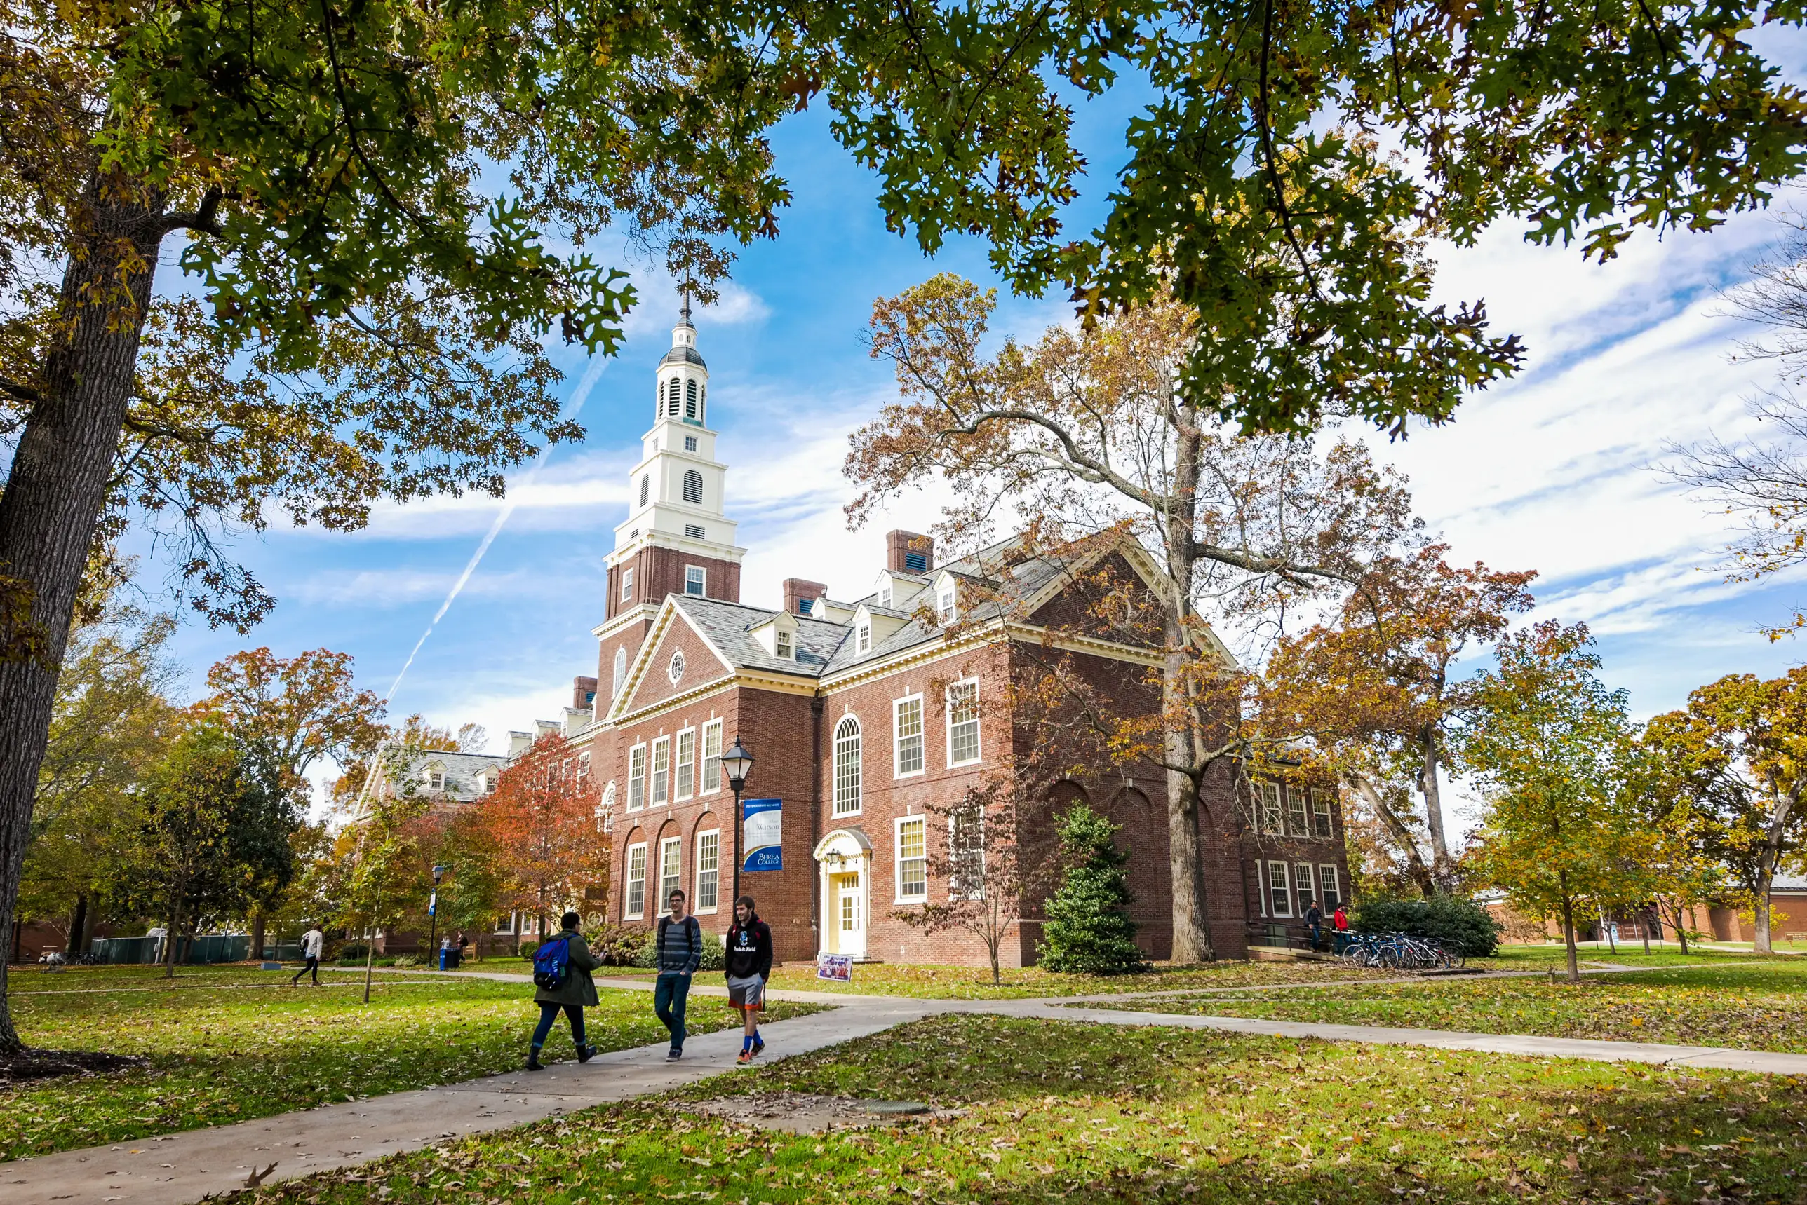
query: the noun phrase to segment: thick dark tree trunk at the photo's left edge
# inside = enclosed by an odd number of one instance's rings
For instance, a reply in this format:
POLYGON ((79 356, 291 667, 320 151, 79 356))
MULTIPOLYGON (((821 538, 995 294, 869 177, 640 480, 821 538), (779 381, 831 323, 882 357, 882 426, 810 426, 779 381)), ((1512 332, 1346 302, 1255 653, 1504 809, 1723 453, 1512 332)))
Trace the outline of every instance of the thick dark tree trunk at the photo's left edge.
MULTIPOLYGON (((18 901, 56 670, 125 426, 161 219, 161 197, 90 182, 63 269, 63 334, 0 493, 0 574, 11 578, 0 585, 23 591, 38 638, 33 656, 0 659, 0 929, 18 901)), ((5 999, 0 965, 0 1053, 22 1050, 5 999)))

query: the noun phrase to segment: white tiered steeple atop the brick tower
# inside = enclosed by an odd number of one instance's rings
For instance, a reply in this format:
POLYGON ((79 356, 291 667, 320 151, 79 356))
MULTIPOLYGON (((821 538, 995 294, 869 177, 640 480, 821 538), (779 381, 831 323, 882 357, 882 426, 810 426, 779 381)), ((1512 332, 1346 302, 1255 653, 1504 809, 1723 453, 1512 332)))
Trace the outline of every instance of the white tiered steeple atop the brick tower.
POLYGON ((739 564, 746 549, 734 544, 735 522, 723 511, 728 470, 716 461, 716 432, 707 426, 708 365, 696 350, 688 294, 652 388, 652 430, 629 475, 627 518, 614 529, 609 564, 649 544, 739 564))

